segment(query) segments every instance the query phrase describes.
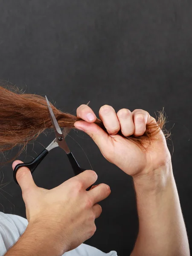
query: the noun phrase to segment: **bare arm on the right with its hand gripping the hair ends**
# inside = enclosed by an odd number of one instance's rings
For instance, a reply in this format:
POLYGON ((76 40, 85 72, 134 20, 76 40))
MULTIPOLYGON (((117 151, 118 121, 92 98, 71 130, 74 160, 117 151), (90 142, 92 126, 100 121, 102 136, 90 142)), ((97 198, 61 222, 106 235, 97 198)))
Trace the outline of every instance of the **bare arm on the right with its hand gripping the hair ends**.
POLYGON ((134 180, 139 234, 131 256, 189 256, 186 228, 172 173, 171 154, 158 125, 164 125, 165 119, 160 118, 157 124, 156 119, 142 109, 131 112, 122 108, 116 113, 112 106, 104 105, 99 110, 99 117, 105 125, 105 132, 93 123, 96 116, 93 121, 89 121, 87 113, 94 115, 89 106, 79 106, 77 116, 86 122, 77 121, 75 127, 86 132, 103 156, 134 180), (139 137, 144 135, 147 125, 151 124, 154 126, 149 131, 157 133, 150 137, 148 143, 145 137, 139 137), (119 136, 119 130, 126 137, 137 137, 145 150, 137 143, 119 136))

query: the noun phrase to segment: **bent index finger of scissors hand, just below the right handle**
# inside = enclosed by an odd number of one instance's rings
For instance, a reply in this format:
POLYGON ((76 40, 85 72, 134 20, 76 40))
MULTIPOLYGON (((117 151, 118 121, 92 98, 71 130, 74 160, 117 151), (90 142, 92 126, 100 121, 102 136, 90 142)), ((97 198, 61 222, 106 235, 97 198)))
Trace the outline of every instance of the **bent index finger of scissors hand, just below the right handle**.
POLYGON ((69 182, 76 181, 76 186, 79 186, 82 189, 87 189, 93 183, 95 183, 97 180, 97 174, 96 172, 92 170, 85 170, 84 172, 81 172, 79 175, 76 175, 75 177, 70 178, 69 182))

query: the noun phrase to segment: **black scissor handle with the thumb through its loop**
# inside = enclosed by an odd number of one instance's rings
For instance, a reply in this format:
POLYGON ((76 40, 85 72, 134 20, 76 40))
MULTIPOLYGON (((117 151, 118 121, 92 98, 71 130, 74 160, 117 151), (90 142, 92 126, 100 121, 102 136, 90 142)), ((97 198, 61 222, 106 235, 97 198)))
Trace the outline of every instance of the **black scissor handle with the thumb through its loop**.
POLYGON ((42 151, 41 154, 39 154, 38 157, 36 157, 31 162, 29 162, 29 163, 18 163, 15 166, 14 170, 13 170, 13 179, 15 180, 15 183, 18 184, 17 179, 16 179, 16 173, 17 173, 17 171, 20 167, 25 166, 25 167, 29 168, 31 173, 33 173, 35 171, 35 169, 37 168, 37 166, 41 163, 41 161, 44 159, 44 157, 47 156, 48 153, 49 153, 49 151, 47 149, 44 149, 44 151, 42 151))

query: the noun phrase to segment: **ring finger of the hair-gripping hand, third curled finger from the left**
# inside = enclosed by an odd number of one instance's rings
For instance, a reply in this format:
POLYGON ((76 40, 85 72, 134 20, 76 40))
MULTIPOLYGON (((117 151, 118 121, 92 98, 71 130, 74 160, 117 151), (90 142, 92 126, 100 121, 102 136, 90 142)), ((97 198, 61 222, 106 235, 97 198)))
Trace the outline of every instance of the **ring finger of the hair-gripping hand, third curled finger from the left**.
POLYGON ((122 108, 116 115, 119 119, 122 134, 127 137, 134 134, 135 127, 131 111, 127 108, 122 108))

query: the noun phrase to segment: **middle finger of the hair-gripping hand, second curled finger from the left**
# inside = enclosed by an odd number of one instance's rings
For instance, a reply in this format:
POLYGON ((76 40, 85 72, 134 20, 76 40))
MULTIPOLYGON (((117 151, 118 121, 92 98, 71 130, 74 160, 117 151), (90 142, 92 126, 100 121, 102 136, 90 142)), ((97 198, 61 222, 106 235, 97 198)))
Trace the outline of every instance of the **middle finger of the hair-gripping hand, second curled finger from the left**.
POLYGON ((119 119, 113 107, 104 105, 99 109, 99 118, 102 120, 108 134, 115 135, 120 130, 119 119))

